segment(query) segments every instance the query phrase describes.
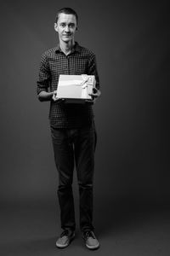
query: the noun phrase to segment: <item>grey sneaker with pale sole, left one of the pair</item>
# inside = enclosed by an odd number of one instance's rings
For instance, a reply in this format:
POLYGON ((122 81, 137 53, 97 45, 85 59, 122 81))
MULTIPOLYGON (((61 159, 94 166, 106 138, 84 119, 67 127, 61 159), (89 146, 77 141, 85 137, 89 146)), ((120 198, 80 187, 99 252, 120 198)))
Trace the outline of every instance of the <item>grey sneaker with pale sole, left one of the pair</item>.
POLYGON ((56 241, 56 247, 65 248, 68 247, 71 241, 75 237, 75 232, 70 230, 64 230, 56 241))

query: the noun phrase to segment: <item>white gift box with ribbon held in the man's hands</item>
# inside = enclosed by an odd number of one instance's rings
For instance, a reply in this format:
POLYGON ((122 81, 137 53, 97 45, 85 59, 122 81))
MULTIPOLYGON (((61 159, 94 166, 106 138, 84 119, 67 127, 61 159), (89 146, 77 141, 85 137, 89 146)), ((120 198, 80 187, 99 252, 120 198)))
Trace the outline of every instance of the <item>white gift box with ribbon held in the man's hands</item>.
POLYGON ((95 87, 94 75, 59 75, 57 97, 74 100, 91 100, 95 87))

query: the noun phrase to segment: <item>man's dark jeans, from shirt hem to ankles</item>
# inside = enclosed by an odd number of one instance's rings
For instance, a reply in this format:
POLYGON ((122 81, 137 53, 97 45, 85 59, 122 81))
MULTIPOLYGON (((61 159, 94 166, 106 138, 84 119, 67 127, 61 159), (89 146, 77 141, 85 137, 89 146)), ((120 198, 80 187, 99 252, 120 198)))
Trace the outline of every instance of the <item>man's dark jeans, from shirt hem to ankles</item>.
POLYGON ((72 194, 73 170, 76 164, 79 186, 80 228, 94 230, 93 180, 96 131, 94 123, 80 129, 51 127, 54 160, 59 172, 59 206, 61 228, 75 230, 75 210, 72 194))

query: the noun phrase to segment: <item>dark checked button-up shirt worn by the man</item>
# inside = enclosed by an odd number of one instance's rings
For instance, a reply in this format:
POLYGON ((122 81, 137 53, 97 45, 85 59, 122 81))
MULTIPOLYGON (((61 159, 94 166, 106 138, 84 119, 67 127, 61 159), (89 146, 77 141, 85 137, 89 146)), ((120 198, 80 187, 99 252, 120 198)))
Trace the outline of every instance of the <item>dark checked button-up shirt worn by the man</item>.
MULTIPOLYGON (((59 74, 94 75, 96 88, 99 89, 99 76, 96 68, 96 59, 93 52, 75 44, 69 55, 65 55, 59 45, 48 49, 42 54, 37 94, 42 90, 57 90, 59 74)), ((51 100, 49 110, 50 125, 56 128, 78 128, 89 125, 94 118, 92 105, 88 103, 58 103, 51 100)))

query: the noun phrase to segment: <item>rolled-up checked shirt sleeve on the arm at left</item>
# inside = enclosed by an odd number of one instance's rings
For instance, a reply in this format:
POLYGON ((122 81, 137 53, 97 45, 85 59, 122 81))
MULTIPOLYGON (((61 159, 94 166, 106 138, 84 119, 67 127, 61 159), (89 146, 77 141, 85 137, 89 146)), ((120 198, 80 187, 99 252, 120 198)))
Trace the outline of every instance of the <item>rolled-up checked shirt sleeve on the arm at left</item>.
POLYGON ((48 67, 48 60, 45 54, 42 55, 40 68, 39 68, 39 77, 37 80, 37 95, 41 91, 48 91, 48 87, 51 83, 51 73, 48 67))

